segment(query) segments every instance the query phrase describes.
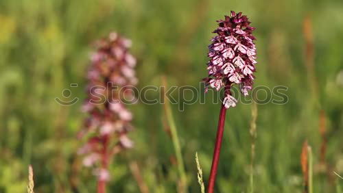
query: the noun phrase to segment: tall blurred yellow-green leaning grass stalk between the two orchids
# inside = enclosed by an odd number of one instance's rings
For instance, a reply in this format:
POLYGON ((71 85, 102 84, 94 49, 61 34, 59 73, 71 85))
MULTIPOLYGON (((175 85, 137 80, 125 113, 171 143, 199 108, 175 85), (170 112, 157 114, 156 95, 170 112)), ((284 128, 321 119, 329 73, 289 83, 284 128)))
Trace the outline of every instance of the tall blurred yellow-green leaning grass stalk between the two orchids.
MULTIPOLYGON (((164 88, 167 88, 167 79, 165 76, 162 77, 162 84, 164 88)), ((186 177, 186 172, 185 172, 185 165, 183 162, 182 158, 182 153, 181 153, 181 147, 180 147, 180 140, 178 139, 178 130, 176 129, 175 121, 174 121, 174 116, 171 112, 171 107, 170 104, 167 101, 167 96, 165 95, 165 90, 163 90, 163 98, 165 101, 164 105, 164 110, 165 110, 165 116, 167 118, 167 123, 170 128, 171 132, 171 140, 173 142, 175 154, 176 154, 176 160, 178 162, 178 172, 180 175, 180 182, 181 182, 181 190, 182 192, 186 192, 186 186, 187 186, 187 177, 186 177)))

